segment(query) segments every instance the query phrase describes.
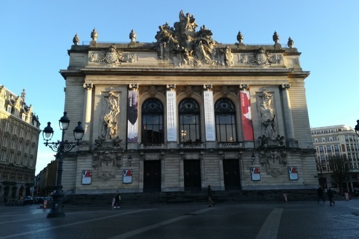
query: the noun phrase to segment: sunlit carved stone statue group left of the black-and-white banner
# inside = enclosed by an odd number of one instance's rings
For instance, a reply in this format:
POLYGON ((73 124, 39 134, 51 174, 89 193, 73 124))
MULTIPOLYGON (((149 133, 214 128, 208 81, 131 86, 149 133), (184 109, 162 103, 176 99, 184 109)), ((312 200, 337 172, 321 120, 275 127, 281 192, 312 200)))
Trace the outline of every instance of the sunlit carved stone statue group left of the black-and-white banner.
POLYGON ((115 139, 118 131, 118 115, 120 113, 120 94, 112 91, 104 93, 103 102, 106 104, 102 114, 102 137, 105 140, 115 139))

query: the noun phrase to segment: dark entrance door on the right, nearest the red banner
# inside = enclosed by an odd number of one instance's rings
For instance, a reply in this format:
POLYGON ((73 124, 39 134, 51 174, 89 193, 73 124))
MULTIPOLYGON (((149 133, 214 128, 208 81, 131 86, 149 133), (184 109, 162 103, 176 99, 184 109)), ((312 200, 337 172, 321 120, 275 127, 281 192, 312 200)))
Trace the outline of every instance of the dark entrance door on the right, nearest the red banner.
POLYGON ((224 176, 224 188, 226 190, 240 189, 238 159, 223 160, 223 176, 224 176))

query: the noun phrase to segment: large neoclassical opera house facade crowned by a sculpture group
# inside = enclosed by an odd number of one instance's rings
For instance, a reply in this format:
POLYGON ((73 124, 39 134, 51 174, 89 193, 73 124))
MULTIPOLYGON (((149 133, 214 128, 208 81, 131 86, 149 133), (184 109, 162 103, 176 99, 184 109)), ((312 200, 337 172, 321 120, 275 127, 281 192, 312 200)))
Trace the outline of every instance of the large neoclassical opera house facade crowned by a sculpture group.
MULTIPOLYGON (((63 162, 76 194, 305 189, 318 185, 300 53, 279 43, 222 44, 179 13, 155 42, 98 41, 68 50, 65 111, 82 121, 63 162)), ((236 35, 233 36, 236 39, 236 35)), ((71 132, 66 132, 71 140, 71 132)))

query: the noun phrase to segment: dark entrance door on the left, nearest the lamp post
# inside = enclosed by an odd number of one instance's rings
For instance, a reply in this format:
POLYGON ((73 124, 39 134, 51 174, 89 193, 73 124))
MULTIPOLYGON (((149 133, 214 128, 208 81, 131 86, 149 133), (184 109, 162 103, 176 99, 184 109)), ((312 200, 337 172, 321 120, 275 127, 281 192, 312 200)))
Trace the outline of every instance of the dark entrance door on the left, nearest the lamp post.
POLYGON ((144 192, 161 192, 161 161, 144 161, 144 192))

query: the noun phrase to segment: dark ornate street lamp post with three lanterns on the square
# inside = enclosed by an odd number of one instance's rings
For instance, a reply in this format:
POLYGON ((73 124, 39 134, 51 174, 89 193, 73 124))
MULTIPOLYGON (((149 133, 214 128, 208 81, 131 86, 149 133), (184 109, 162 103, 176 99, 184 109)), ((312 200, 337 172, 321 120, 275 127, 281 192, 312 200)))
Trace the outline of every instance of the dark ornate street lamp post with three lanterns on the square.
POLYGON ((62 210, 62 201, 63 201, 63 192, 62 192, 62 163, 63 163, 63 154, 65 152, 71 151, 75 146, 79 145, 79 141, 84 136, 84 129, 81 126, 81 122, 78 122, 78 125, 74 129, 74 138, 77 142, 69 142, 68 140, 63 140, 65 135, 65 130, 67 130, 70 120, 66 116, 66 112, 63 112, 63 116, 59 120, 60 130, 62 131, 61 141, 49 142, 54 135, 54 131, 50 126, 50 122, 47 123, 47 126, 42 131, 42 137, 46 142, 45 146, 49 146, 53 151, 57 152, 58 161, 58 175, 56 178, 55 191, 51 194, 53 197, 53 203, 50 212, 47 214, 47 217, 63 217, 65 213, 62 210))

